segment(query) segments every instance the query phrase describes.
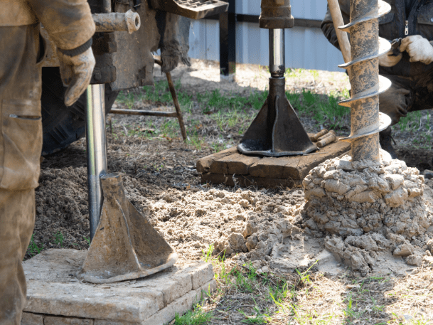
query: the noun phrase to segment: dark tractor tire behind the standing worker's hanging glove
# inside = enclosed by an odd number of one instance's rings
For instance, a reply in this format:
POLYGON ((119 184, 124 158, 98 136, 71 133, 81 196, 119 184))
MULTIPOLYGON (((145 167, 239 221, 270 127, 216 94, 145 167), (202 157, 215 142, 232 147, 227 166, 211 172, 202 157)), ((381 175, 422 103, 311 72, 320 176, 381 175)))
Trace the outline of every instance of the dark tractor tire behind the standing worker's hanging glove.
MULTIPOLYGON (((59 68, 42 69, 42 155, 53 154, 85 136, 85 93, 74 105, 63 102, 66 87, 60 78, 59 68)), ((105 114, 111 110, 119 92, 105 85, 105 114)))

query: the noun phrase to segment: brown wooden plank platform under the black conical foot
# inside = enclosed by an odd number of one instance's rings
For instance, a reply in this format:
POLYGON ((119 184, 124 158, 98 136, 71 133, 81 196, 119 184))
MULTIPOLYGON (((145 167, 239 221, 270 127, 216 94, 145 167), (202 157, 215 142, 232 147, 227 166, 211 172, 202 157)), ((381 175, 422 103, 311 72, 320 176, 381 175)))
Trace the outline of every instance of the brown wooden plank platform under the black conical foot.
POLYGON ((326 159, 349 151, 347 142, 334 142, 305 156, 260 157, 240 154, 236 147, 205 156, 197 161, 202 183, 259 188, 294 187, 311 169, 326 159))

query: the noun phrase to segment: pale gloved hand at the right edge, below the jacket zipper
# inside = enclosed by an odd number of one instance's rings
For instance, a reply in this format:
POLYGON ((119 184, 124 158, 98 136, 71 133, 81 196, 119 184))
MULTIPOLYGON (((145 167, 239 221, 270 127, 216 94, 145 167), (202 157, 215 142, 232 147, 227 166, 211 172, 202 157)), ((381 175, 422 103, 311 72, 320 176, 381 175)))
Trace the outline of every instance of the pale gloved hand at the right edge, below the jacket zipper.
POLYGON ((400 52, 404 50, 409 53, 410 62, 422 62, 424 64, 433 62, 433 46, 426 38, 420 35, 412 35, 403 38, 400 52))

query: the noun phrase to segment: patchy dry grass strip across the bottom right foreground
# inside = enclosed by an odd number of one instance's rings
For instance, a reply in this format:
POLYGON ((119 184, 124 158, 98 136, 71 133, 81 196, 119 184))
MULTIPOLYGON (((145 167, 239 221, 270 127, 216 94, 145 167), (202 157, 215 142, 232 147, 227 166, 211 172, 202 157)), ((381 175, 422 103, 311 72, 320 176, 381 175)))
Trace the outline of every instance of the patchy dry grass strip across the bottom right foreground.
POLYGON ((213 262, 218 289, 205 324, 433 324, 433 268, 406 277, 338 277, 314 272, 258 274, 252 265, 213 262))

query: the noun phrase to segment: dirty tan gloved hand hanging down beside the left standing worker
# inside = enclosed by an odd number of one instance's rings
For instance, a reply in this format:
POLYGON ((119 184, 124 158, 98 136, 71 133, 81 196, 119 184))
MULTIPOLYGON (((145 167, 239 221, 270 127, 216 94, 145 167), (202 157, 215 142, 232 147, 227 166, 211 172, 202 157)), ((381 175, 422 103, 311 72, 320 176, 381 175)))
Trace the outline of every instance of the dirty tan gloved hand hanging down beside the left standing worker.
POLYGON ((95 68, 95 57, 92 48, 85 52, 69 56, 57 50, 60 61, 60 77, 63 85, 68 86, 65 92, 65 105, 71 106, 78 97, 86 90, 92 79, 93 68, 95 68))

